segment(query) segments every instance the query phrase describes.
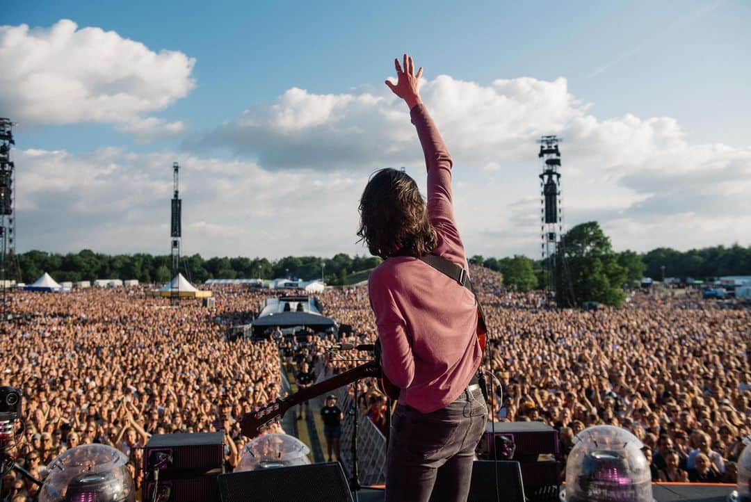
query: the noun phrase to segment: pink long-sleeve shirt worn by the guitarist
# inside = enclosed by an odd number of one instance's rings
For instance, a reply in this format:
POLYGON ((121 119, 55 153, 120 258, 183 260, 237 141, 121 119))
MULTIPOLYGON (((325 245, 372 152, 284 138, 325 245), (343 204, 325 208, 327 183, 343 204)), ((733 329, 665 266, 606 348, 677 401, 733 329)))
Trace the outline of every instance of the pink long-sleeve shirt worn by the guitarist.
MULTIPOLYGON (((427 165, 427 213, 438 236, 433 254, 467 269, 454 220, 451 155, 423 104, 410 115, 427 165)), ((400 404, 430 413, 458 398, 482 358, 474 295, 415 257, 385 260, 370 274, 368 291, 383 371, 402 389, 400 404)))

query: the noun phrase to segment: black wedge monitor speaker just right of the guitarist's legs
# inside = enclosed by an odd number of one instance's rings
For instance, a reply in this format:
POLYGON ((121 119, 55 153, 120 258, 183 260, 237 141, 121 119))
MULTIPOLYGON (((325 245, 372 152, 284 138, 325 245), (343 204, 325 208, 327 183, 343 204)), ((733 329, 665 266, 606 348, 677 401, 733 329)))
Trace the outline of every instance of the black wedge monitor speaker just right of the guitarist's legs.
POLYGON ((467 502, 524 502, 524 484, 519 462, 512 460, 478 460, 472 464, 467 502), (498 491, 496 491, 496 468, 498 491), (499 498, 500 497, 500 498, 499 498))

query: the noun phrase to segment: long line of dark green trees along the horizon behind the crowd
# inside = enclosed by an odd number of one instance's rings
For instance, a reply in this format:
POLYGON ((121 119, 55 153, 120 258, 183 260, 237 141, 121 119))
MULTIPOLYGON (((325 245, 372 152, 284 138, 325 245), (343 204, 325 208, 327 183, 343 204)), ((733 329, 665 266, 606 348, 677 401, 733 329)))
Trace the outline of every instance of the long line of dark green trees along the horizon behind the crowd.
MULTIPOLYGON (((618 305, 625 295, 623 286, 632 285, 642 277, 656 280, 665 277, 709 278, 721 275, 751 274, 751 246, 713 246, 689 251, 656 248, 644 254, 635 251, 616 252, 608 236, 596 221, 573 227, 562 236, 560 257, 556 257, 553 281, 561 305, 581 305, 587 300, 618 305), (664 269, 663 269, 664 267, 664 269)), ((475 255, 470 263, 500 272, 503 287, 530 291, 544 288, 550 278, 545 275, 541 260, 523 255, 513 257, 482 257, 475 255)), ((327 284, 348 284, 348 278, 365 278, 366 271, 377 266, 376 257, 339 253, 331 258, 283 257, 279 260, 249 257, 213 257, 200 254, 182 257, 180 271, 193 282, 210 278, 320 278, 327 284)), ((11 278, 29 283, 42 272, 57 281, 93 281, 95 279, 138 279, 147 283, 170 280, 169 255, 102 254, 84 249, 79 253, 56 254, 29 251, 12 257, 7 267, 11 278)))

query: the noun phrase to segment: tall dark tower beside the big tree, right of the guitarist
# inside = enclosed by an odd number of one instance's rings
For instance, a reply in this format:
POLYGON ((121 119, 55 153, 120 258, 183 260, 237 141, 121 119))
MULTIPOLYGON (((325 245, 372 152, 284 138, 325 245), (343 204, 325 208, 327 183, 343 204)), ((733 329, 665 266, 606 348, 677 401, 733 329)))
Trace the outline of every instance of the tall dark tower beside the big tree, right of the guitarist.
POLYGON ((556 289, 556 251, 559 236, 563 232, 561 210, 561 152, 558 143, 562 140, 556 136, 540 138, 542 173, 540 177, 540 238, 542 266, 550 292, 556 289))

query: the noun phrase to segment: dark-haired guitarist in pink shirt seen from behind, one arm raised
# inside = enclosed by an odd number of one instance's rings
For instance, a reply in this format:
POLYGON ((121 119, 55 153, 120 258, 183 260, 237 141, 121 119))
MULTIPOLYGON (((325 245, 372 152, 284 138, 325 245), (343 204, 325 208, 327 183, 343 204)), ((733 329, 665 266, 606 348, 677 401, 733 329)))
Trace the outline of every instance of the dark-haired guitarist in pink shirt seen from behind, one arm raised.
POLYGON ((376 172, 360 199, 360 236, 383 263, 368 289, 385 376, 400 387, 386 461, 387 502, 466 500, 487 407, 476 374, 482 350, 475 296, 419 260, 468 269, 454 219, 451 155, 422 103, 412 57, 386 85, 409 106, 427 165, 427 204, 400 170, 376 172), (433 496, 431 497, 431 494, 433 496))

